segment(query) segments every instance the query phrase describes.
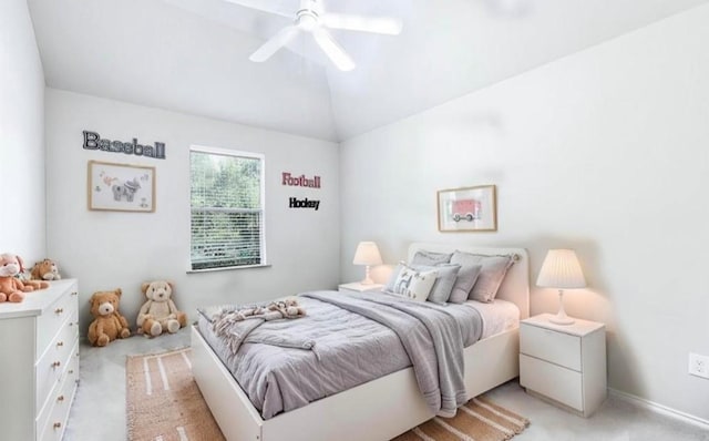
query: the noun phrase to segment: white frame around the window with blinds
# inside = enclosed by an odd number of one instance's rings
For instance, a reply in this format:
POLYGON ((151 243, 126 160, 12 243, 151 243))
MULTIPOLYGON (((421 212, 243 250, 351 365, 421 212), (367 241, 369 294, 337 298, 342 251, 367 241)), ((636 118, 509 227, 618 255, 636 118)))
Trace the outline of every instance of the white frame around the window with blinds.
POLYGON ((238 150, 230 148, 219 148, 219 147, 209 147, 204 145, 191 145, 189 146, 189 268, 187 273, 207 273, 207 271, 222 271, 222 270, 230 270, 230 269, 245 269, 245 268, 259 268, 267 267, 267 254, 266 254, 266 155, 263 153, 254 153, 254 152, 245 152, 238 150), (261 261, 259 264, 254 265, 235 265, 235 266, 225 266, 225 267, 215 267, 215 268, 201 268, 193 269, 192 261, 192 153, 205 153, 210 155, 222 155, 222 156, 233 156, 233 157, 246 157, 246 158, 255 158, 260 161, 260 213, 261 213, 261 223, 260 223, 260 256, 261 261))

